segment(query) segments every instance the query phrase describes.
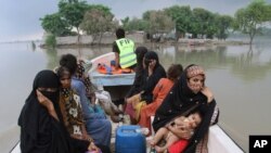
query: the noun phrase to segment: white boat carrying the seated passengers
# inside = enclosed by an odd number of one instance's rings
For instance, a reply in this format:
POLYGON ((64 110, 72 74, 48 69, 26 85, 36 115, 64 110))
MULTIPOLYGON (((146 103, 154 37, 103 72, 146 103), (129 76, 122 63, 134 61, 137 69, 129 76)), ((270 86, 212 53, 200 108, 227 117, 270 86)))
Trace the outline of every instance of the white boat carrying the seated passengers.
MULTIPOLYGON (((107 91, 109 90, 115 99, 124 98, 124 93, 128 91, 124 89, 129 88, 132 85, 134 73, 116 75, 98 73, 96 67, 100 63, 109 65, 109 61, 112 60, 114 60, 113 52, 88 61, 87 64, 91 65, 88 74, 91 77, 91 81, 100 86, 99 88, 105 88, 107 91)), ((240 148, 219 125, 210 126, 208 135, 209 153, 244 153, 244 150, 242 150, 242 148, 240 148)), ((112 140, 114 141, 115 139, 112 140)), ((146 149, 146 152, 150 152, 150 148, 146 149)), ((10 153, 21 153, 20 142, 10 153)))

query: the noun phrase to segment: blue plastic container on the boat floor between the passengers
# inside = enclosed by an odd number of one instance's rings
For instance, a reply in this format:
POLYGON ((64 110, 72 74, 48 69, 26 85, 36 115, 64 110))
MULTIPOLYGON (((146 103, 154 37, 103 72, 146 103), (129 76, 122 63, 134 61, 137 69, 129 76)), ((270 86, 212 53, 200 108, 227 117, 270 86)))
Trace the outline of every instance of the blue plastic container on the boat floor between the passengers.
POLYGON ((145 153, 145 136, 141 132, 140 126, 121 126, 117 128, 116 153, 145 153))

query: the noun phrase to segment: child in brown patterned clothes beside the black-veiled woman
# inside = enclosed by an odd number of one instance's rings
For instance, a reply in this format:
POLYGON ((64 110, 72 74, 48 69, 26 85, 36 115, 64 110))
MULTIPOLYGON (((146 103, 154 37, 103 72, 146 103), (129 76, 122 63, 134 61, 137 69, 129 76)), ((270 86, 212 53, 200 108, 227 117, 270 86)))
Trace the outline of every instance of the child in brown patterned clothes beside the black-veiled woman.
POLYGON ((96 149, 94 140, 86 130, 80 98, 72 89, 72 74, 64 66, 59 67, 56 74, 61 82, 59 105, 68 133, 75 139, 90 141, 93 143, 93 149, 96 149))

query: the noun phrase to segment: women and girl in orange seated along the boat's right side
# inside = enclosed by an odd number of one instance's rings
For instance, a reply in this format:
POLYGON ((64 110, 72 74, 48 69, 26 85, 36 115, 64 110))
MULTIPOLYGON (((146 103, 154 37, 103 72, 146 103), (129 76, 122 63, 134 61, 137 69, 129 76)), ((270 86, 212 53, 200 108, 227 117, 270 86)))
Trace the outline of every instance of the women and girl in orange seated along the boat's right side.
POLYGON ((189 140, 185 148, 181 140, 175 142, 167 149, 169 153, 208 152, 208 128, 218 122, 219 110, 212 92, 205 86, 204 69, 191 64, 183 71, 182 65, 172 64, 166 73, 154 51, 139 47, 136 53, 138 66, 134 82, 126 97, 126 113, 134 124, 150 131, 151 127, 155 132, 167 127, 178 138, 189 140), (169 124, 195 111, 203 114, 195 130, 169 124), (152 125, 151 116, 154 116, 152 125))

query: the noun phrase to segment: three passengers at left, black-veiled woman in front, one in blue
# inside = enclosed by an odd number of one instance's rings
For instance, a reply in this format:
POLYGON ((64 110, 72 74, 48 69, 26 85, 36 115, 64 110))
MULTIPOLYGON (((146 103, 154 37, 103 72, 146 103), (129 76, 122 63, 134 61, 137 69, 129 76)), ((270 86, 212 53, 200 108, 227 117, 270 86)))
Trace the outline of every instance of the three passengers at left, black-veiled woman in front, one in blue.
POLYGON ((78 69, 65 54, 56 72, 37 74, 18 118, 22 153, 111 152, 111 122, 93 111, 78 69))

